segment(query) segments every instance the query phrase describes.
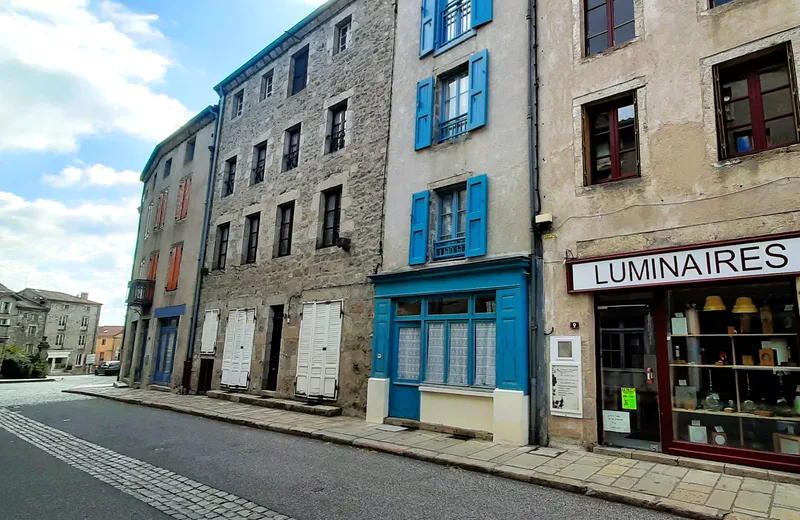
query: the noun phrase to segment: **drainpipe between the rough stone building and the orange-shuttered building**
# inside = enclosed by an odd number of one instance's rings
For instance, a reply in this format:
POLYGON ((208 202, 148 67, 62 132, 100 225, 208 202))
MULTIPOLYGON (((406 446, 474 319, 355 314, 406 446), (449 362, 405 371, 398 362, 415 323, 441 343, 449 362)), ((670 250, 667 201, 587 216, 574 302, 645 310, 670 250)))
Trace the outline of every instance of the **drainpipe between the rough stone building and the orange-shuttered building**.
POLYGON ((194 342, 197 339, 195 324, 200 308, 200 286, 203 283, 203 264, 206 261, 206 241, 208 240, 208 226, 211 222, 211 204, 214 201, 214 173, 217 164, 217 150, 219 149, 219 134, 222 130, 222 115, 225 113, 225 95, 222 89, 217 90, 219 104, 217 106, 217 125, 214 129, 214 144, 211 145, 211 157, 208 164, 208 178, 206 182, 206 205, 203 211, 203 231, 200 235, 200 254, 197 258, 197 274, 194 279, 194 298, 192 299, 192 316, 189 318, 189 347, 186 350, 186 360, 183 362, 183 384, 181 393, 188 394, 192 388, 192 361, 194 360, 194 342))

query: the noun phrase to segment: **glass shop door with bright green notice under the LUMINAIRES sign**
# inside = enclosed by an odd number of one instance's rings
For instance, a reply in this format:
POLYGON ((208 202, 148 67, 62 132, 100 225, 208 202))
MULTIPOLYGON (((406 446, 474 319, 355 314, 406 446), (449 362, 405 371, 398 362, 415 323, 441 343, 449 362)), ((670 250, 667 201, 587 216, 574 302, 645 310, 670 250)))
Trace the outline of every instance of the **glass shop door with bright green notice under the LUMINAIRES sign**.
POLYGON ((653 299, 598 298, 600 431, 608 446, 661 450, 653 299))

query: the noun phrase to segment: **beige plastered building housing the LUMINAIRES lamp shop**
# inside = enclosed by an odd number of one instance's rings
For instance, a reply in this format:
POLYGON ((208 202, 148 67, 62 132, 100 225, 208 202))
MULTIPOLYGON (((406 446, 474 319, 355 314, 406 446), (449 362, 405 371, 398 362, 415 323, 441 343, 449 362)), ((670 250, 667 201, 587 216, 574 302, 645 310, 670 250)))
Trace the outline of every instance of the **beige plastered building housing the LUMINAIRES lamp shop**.
POLYGON ((551 440, 796 470, 798 4, 537 4, 551 440))

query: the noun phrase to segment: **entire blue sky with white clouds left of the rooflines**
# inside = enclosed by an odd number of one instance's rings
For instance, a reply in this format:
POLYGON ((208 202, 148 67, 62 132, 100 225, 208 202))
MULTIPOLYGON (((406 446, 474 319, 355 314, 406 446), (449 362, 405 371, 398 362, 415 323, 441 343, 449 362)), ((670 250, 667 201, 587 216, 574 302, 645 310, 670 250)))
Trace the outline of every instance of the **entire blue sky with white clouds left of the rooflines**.
POLYGON ((0 283, 122 325, 153 147, 323 3, 0 0, 0 283))

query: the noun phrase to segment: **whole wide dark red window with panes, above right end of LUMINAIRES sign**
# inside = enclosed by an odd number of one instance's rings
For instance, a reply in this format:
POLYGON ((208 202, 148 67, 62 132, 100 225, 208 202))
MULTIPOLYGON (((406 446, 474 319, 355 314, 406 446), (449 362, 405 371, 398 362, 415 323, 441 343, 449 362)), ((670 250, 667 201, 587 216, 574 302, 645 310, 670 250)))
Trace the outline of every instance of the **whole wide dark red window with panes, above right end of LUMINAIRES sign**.
POLYGON ((798 142, 797 91, 788 46, 719 66, 720 158, 798 142))

